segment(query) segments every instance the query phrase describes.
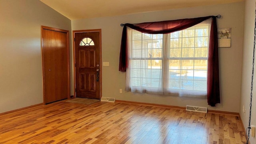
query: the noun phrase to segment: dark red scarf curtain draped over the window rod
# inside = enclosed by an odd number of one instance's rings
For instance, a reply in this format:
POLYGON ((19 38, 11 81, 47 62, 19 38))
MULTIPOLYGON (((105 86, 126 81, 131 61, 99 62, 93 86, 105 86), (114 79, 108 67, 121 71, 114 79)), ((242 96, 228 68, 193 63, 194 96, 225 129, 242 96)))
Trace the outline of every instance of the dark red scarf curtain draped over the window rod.
POLYGON ((217 103, 220 103, 218 33, 216 16, 168 20, 161 22, 144 22, 136 25, 124 24, 120 49, 119 71, 126 72, 126 68, 129 65, 127 26, 134 30, 138 30, 139 32, 148 34, 168 34, 171 32, 184 30, 209 18, 212 19, 212 25, 210 30, 208 54, 207 100, 210 106, 215 106, 217 103))

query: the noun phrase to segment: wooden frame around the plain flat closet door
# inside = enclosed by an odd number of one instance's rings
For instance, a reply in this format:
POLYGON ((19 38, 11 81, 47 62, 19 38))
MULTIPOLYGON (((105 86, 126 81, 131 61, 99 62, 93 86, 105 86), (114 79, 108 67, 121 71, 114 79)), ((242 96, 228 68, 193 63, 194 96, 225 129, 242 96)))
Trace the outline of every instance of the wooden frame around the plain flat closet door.
POLYGON ((43 37, 42 37, 42 32, 43 30, 53 30, 56 32, 64 32, 67 34, 66 37, 66 51, 67 51, 67 68, 68 68, 68 99, 70 99, 70 57, 69 57, 69 31, 68 30, 62 30, 59 28, 52 28, 49 26, 41 26, 41 54, 42 54, 42 71, 43 71, 43 99, 44 99, 44 105, 46 104, 46 100, 45 100, 45 82, 44 82, 44 53, 43 53, 43 37))

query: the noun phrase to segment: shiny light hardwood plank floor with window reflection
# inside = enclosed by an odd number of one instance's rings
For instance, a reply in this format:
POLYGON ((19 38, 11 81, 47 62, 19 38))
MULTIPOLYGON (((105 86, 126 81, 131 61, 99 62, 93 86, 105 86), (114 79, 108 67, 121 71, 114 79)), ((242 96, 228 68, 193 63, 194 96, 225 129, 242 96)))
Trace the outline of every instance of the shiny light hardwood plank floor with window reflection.
POLYGON ((0 116, 0 144, 245 144, 238 116, 57 102, 0 116))

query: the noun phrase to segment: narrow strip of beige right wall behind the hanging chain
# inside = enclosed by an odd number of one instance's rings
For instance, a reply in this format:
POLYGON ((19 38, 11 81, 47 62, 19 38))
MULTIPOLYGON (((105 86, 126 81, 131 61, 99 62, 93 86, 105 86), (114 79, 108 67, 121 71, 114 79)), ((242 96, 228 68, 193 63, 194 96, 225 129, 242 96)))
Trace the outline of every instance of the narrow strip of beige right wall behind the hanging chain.
MULTIPOLYGON (((252 56, 253 56, 253 42, 254 42, 254 20, 255 20, 255 0, 245 0, 244 4, 244 48, 242 61, 242 85, 241 85, 241 103, 240 116, 244 123, 244 127, 248 127, 249 120, 249 104, 252 80, 252 56), (243 113, 243 106, 246 112, 243 113)), ((256 125, 256 83, 255 83, 255 69, 254 66, 254 89, 252 98, 252 117, 251 124, 256 125)), ((250 143, 256 144, 256 138, 250 137, 250 143)))

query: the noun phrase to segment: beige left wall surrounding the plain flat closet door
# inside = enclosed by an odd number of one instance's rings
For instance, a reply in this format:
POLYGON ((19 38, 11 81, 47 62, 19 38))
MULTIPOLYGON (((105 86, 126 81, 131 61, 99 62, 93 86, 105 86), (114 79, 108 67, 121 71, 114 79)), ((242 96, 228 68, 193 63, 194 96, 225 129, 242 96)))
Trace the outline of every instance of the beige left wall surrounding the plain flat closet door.
POLYGON ((39 0, 1 0, 0 19, 1 113, 43 102, 41 25, 72 32, 68 18, 39 0))

